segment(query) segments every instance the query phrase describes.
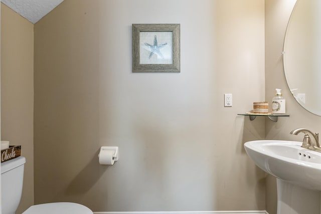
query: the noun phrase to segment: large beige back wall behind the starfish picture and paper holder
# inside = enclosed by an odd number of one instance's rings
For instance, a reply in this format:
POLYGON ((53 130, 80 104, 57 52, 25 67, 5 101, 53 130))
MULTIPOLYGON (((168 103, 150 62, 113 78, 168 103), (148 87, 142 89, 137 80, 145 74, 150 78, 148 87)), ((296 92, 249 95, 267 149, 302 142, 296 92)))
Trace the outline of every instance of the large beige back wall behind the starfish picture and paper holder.
POLYGON ((66 0, 35 24, 35 202, 265 209, 264 120, 237 116, 264 96, 263 0, 66 0), (181 24, 181 73, 131 73, 133 23, 181 24))

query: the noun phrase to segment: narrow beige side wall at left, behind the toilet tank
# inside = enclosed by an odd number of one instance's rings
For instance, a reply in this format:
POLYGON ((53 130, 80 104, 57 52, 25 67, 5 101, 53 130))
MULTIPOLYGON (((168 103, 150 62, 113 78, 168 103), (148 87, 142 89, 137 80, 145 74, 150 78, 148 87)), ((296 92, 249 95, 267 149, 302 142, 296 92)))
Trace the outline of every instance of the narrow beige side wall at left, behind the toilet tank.
POLYGON ((17 214, 34 203, 33 78, 34 25, 1 4, 1 139, 27 159, 17 214))

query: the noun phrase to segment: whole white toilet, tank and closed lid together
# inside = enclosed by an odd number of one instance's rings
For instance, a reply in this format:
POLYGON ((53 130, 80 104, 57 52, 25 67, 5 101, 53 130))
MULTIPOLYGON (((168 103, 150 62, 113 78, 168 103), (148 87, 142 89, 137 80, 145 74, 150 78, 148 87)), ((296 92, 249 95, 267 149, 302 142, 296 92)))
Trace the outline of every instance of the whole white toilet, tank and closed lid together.
MULTIPOLYGON (((1 163, 2 214, 15 214, 20 203, 25 157, 17 157, 1 163)), ((23 214, 93 214, 86 206, 71 203, 44 203, 29 207, 23 214)))

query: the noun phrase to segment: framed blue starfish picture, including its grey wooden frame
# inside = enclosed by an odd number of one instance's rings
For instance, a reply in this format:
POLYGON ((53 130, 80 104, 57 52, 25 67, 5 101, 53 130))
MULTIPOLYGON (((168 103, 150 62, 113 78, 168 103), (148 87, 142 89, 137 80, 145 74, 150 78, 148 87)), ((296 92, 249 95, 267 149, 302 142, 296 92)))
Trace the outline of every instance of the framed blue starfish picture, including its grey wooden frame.
POLYGON ((180 24, 133 24, 132 72, 180 72, 180 24))

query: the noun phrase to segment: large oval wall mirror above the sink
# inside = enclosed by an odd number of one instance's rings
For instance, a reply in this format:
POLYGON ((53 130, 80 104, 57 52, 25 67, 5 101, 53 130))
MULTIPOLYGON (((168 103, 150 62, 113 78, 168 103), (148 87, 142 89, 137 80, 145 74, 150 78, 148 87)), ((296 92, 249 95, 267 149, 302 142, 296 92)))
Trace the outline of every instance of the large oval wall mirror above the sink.
POLYGON ((284 40, 286 82, 296 101, 321 115, 321 1, 297 0, 284 40))

